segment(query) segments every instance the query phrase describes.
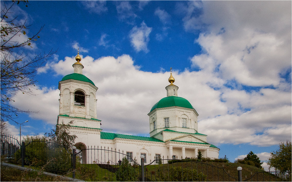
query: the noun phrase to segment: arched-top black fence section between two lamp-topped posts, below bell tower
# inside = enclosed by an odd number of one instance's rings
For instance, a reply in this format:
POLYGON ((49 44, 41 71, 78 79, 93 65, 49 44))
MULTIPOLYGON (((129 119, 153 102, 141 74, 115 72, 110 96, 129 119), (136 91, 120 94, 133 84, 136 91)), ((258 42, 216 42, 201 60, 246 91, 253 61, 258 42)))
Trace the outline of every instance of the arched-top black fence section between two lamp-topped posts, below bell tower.
POLYGON ((86 181, 140 181, 141 178, 141 166, 135 158, 109 147, 77 149, 73 166, 73 177, 86 181))

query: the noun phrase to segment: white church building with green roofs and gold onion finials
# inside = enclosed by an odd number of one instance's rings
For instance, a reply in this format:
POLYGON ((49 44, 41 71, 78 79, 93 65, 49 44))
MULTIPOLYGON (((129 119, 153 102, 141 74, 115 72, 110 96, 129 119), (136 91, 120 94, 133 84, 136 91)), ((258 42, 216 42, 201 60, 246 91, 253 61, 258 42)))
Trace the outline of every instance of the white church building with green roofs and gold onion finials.
POLYGON ((199 114, 187 99, 178 97, 178 86, 173 84, 172 73, 168 79, 170 84, 165 87, 166 97, 154 104, 148 113, 150 137, 103 132, 101 120, 97 119, 98 87, 82 74, 84 66, 80 63, 79 53, 75 59, 74 73, 59 82, 57 125, 71 122, 70 133, 77 136, 75 143, 83 149, 105 146, 124 151, 133 159, 144 155, 146 164, 154 157, 196 158, 198 151, 203 157, 218 158, 220 149, 207 142, 207 135, 198 133, 199 114))

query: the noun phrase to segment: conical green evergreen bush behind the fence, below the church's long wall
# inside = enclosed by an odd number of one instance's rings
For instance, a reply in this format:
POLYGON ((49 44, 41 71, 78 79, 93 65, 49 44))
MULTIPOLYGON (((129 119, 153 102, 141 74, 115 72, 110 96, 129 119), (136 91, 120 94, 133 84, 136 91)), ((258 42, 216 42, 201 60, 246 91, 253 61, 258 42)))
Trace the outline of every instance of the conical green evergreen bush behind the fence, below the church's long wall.
POLYGON ((117 181, 137 181, 137 174, 135 168, 131 166, 127 157, 122 159, 121 165, 116 172, 117 181))

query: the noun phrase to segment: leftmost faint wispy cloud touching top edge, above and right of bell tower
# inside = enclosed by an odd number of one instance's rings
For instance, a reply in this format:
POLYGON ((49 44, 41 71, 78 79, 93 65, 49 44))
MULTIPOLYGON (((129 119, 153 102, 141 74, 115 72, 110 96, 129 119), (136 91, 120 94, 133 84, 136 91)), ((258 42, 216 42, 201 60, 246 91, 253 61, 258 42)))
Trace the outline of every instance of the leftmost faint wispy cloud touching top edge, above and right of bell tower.
POLYGON ((101 14, 107 11, 106 1, 81 1, 81 3, 91 13, 101 14))

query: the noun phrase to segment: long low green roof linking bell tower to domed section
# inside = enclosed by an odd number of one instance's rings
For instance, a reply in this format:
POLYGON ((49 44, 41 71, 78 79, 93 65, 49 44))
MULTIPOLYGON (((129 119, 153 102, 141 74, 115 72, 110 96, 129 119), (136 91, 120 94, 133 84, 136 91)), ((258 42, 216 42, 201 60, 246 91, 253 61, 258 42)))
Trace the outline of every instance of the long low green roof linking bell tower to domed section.
POLYGON ((144 140, 144 141, 151 141, 151 142, 163 142, 156 138, 151 137, 141 137, 141 136, 133 136, 133 135, 123 135, 117 133, 107 133, 107 132, 100 132, 101 139, 109 139, 113 140, 114 138, 125 138, 125 139, 132 139, 132 140, 144 140))

